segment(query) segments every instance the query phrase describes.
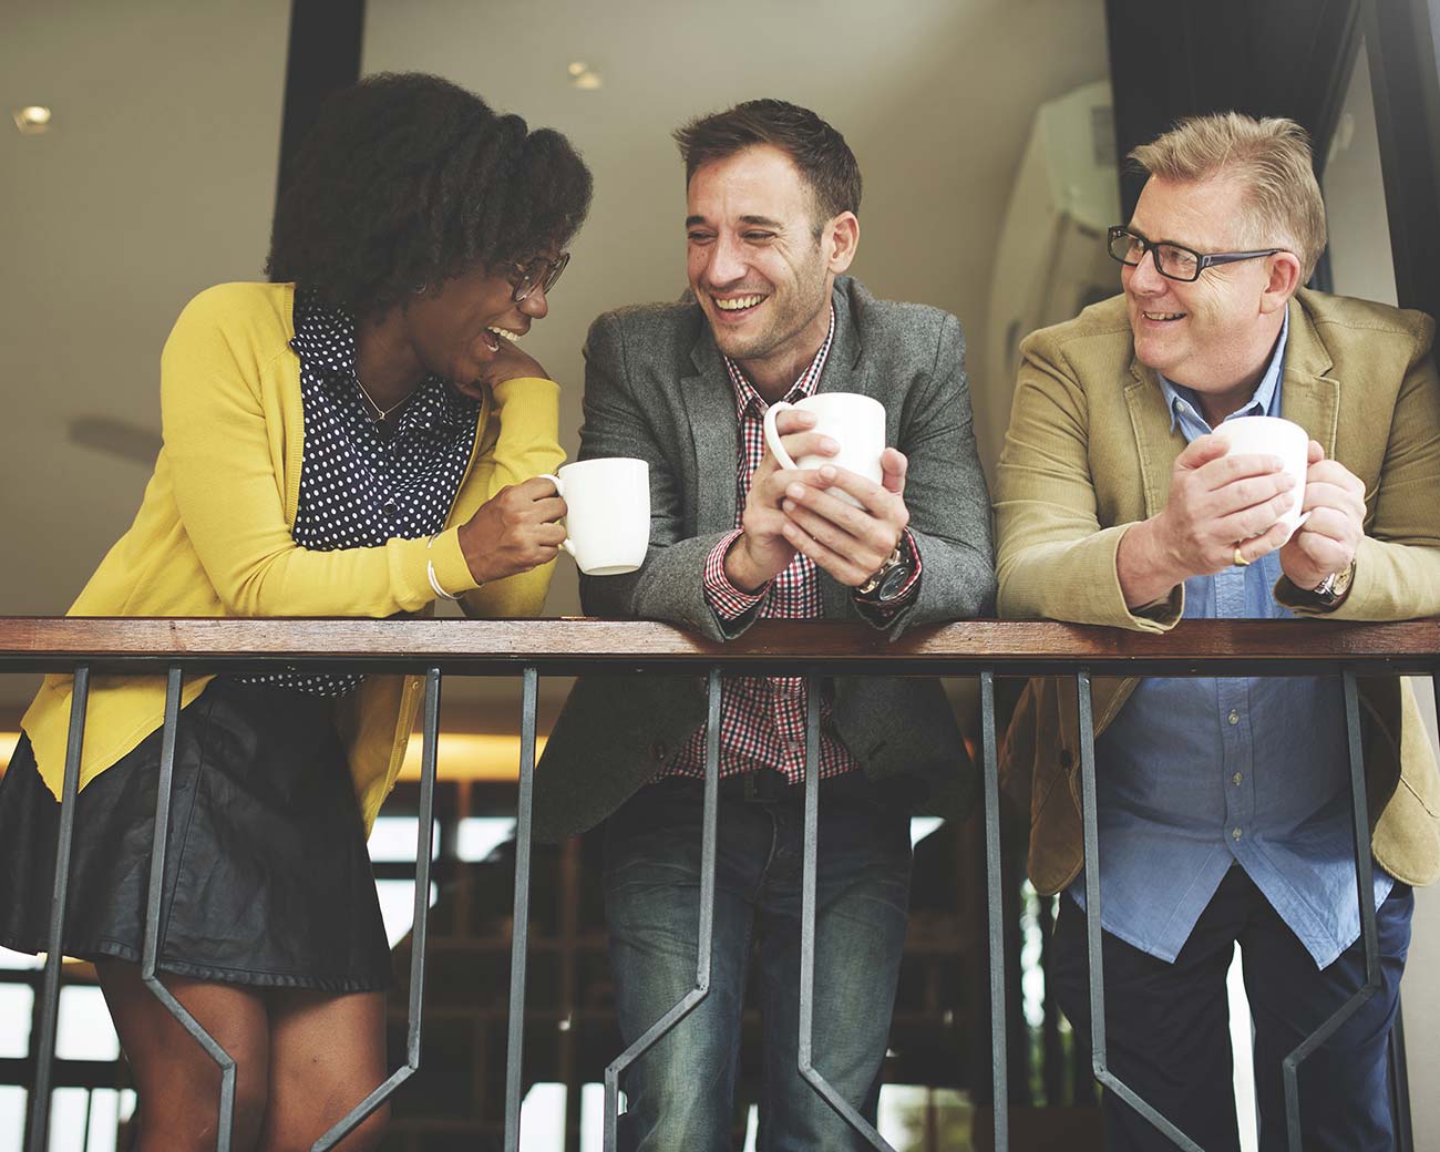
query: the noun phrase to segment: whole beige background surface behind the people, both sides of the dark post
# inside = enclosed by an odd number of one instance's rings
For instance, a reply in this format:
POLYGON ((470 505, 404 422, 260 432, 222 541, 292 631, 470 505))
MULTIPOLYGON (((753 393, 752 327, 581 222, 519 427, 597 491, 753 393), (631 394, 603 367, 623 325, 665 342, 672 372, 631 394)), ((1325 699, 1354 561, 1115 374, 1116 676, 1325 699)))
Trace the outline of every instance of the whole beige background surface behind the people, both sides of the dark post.
MULTIPOLYGON (((157 431, 160 346, 180 307, 207 284, 261 276, 289 4, 6 9, 0 613, 59 613, 148 475, 69 444, 66 426, 107 416, 157 431), (10 127, 26 104, 55 109, 49 134, 10 127)), ((818 109, 865 177, 857 275, 978 337, 1034 109, 1107 75, 1102 0, 369 0, 363 66, 449 76, 562 130, 590 164, 589 223, 528 343, 566 389, 572 452, 589 323, 684 288, 678 122, 759 95, 818 109), (572 88, 575 59, 603 88, 572 88)), ((1008 406, 1009 382, 986 379, 973 350, 971 373, 976 405, 1008 406)), ((577 611, 566 563, 549 611, 577 611)))

